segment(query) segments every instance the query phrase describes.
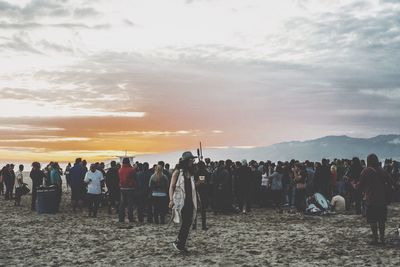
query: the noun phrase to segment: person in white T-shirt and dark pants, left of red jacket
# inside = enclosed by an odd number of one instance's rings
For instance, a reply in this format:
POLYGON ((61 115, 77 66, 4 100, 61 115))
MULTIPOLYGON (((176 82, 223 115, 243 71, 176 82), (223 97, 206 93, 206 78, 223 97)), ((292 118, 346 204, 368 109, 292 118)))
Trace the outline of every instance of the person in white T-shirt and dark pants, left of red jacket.
POLYGON ((97 210, 101 199, 101 182, 103 180, 103 174, 97 170, 96 165, 90 165, 90 170, 86 173, 84 179, 88 185, 89 217, 97 217, 97 210))

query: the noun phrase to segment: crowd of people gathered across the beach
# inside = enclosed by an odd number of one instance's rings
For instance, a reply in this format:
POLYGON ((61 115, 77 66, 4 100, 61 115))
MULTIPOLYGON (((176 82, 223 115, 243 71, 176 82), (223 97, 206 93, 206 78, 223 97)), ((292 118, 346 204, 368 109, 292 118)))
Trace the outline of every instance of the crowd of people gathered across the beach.
MULTIPOLYGON (((140 223, 165 224, 168 207, 177 206, 174 192, 182 187, 183 192, 190 191, 190 196, 196 198, 193 203, 189 202, 196 206, 191 206, 192 211, 193 208, 200 211, 204 230, 207 230, 207 210, 215 214, 245 214, 254 207, 272 206, 279 213, 283 210, 305 212, 307 200, 318 192, 331 201, 332 209, 337 212, 354 209, 357 214, 364 214, 371 224, 373 242, 378 241, 378 229, 381 242, 384 242, 386 205, 390 202, 389 196, 394 196, 388 193, 388 188, 393 189, 400 179, 399 165, 394 160, 385 160, 382 164, 373 154, 368 157, 367 163, 356 157, 351 160, 276 163, 211 161, 206 158, 185 167, 188 175, 193 176, 193 191, 190 182, 183 182, 183 178, 180 180, 186 161, 194 159, 191 153, 184 158, 185 153, 173 169, 162 161, 150 167, 147 162, 131 164, 128 158, 123 159, 122 164, 112 161, 109 168, 104 163, 93 163, 88 168, 87 162, 78 158, 65 170, 57 162, 51 162, 43 169, 38 162, 34 162, 29 175, 32 180, 31 209, 36 209, 36 192, 44 185, 56 188, 59 205, 63 175, 71 193, 73 212, 86 207, 88 215, 96 217, 99 207, 104 207, 109 214, 117 213, 119 222, 124 222, 126 215, 129 222, 134 222, 136 209, 140 223)), ((19 189, 26 186, 23 170, 24 166, 20 165, 15 173, 13 164, 1 169, 0 194, 4 194, 6 200, 13 199, 15 205, 20 205, 21 192, 26 192, 19 189)), ((180 205, 182 213, 179 216, 182 224, 186 225, 181 232, 188 232, 186 228, 188 225, 190 228, 192 223, 185 222, 190 221, 190 217, 196 220, 197 216, 185 211, 184 207, 189 205, 186 202, 180 205)), ((183 250, 184 242, 179 246, 183 250)))

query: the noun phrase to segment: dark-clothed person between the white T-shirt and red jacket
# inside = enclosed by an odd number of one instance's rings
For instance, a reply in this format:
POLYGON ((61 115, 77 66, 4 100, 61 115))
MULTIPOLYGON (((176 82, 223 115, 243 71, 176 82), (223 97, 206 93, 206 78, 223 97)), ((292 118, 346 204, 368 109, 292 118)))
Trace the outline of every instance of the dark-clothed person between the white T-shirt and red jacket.
POLYGON ((111 161, 111 168, 108 169, 106 173, 106 186, 108 190, 108 214, 111 214, 111 209, 114 207, 115 211, 118 213, 120 190, 119 190, 119 175, 117 163, 113 160, 111 161))

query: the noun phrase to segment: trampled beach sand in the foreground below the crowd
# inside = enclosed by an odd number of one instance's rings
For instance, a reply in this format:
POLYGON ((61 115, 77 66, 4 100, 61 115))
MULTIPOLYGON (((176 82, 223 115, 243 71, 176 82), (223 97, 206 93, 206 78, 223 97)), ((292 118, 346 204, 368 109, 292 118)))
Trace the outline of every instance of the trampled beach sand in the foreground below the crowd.
MULTIPOLYGON (((189 255, 171 242, 178 226, 138 223, 119 229, 116 215, 73 214, 69 195, 57 215, 38 215, 0 199, 1 266, 400 266, 399 247, 367 244, 370 231, 357 215, 308 217, 254 209, 209 216, 208 231, 191 231, 189 255)), ((400 223, 400 203, 389 208, 388 231, 400 223)), ((199 223, 200 224, 200 223, 199 223)), ((388 233, 393 237, 393 233, 388 233)))

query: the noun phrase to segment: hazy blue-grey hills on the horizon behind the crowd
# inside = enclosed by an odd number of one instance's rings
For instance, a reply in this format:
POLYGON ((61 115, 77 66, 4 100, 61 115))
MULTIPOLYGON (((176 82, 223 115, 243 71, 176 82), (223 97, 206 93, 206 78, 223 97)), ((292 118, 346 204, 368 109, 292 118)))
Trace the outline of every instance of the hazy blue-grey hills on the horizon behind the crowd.
MULTIPOLYGON (((193 151, 194 153, 195 151, 193 151)), ((182 152, 171 152, 159 155, 138 156, 139 161, 165 160, 176 163, 182 152)), ((278 143, 267 147, 256 148, 212 148, 204 149, 204 157, 212 160, 271 160, 286 161, 291 159, 320 161, 322 158, 365 159, 375 153, 380 159, 393 158, 400 160, 400 135, 379 135, 373 138, 353 138, 348 136, 326 136, 308 141, 278 143)))

